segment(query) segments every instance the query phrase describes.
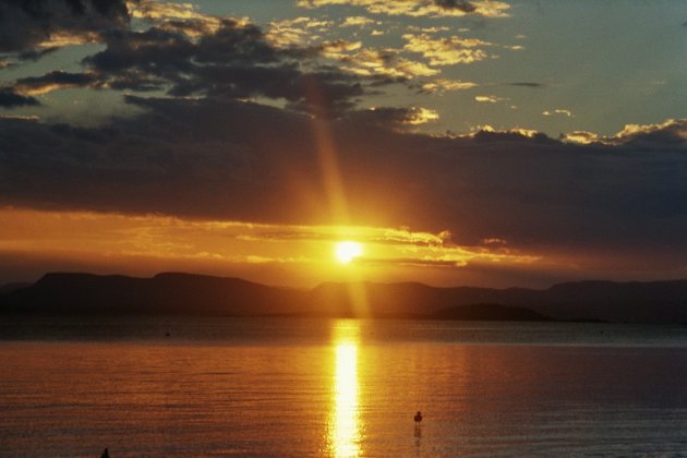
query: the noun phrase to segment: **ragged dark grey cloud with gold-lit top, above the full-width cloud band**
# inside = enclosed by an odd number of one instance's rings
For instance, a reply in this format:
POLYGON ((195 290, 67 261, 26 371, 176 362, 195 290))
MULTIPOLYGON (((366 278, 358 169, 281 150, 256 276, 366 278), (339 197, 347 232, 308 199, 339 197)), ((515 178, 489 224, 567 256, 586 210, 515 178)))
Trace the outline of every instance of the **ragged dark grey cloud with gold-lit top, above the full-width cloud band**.
POLYGON ((192 40, 152 27, 117 32, 107 48, 84 60, 100 84, 114 88, 167 89, 177 97, 284 99, 297 111, 338 118, 364 89, 357 76, 336 69, 306 69, 309 50, 277 49, 254 25, 224 20, 215 33, 192 40))

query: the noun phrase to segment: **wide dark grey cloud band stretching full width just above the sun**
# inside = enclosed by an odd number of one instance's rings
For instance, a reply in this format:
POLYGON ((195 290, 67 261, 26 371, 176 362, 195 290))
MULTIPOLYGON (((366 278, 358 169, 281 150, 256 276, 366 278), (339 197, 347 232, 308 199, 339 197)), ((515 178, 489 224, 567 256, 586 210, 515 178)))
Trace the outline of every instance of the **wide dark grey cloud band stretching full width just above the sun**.
POLYGON ((499 238, 532 252, 687 255, 686 121, 572 145, 393 131, 403 110, 325 122, 251 103, 128 100, 146 113, 98 129, 0 120, 0 204, 343 222, 322 171, 327 147, 347 222, 447 229, 458 244, 499 238))

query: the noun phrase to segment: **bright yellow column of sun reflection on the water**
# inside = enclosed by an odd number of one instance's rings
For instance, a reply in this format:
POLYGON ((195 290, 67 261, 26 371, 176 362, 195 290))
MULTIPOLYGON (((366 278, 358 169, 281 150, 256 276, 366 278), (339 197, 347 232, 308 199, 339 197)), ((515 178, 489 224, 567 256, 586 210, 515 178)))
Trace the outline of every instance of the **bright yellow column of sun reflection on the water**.
POLYGON ((335 457, 357 457, 362 450, 358 389, 359 325, 340 321, 334 326, 334 383, 329 414, 329 451, 335 457))

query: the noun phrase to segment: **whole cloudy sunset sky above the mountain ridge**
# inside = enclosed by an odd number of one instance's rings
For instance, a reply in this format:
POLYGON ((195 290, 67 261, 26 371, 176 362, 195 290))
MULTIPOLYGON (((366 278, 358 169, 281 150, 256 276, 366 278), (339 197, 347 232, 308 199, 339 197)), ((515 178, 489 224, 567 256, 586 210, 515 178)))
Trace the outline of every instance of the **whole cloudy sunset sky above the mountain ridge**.
POLYGON ((53 270, 687 278, 687 2, 0 0, 0 285, 53 270))

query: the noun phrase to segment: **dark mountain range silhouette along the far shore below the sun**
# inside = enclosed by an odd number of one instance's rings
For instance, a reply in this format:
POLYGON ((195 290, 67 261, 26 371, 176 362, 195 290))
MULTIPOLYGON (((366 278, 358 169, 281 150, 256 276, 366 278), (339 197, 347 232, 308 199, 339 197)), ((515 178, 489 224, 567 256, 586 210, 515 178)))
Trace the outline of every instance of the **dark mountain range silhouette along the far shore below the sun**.
POLYGON ((29 286, 0 289, 0 313, 686 323, 687 280, 578 281, 543 290, 435 288, 415 282, 325 282, 296 289, 181 273, 153 278, 53 273, 29 286))

